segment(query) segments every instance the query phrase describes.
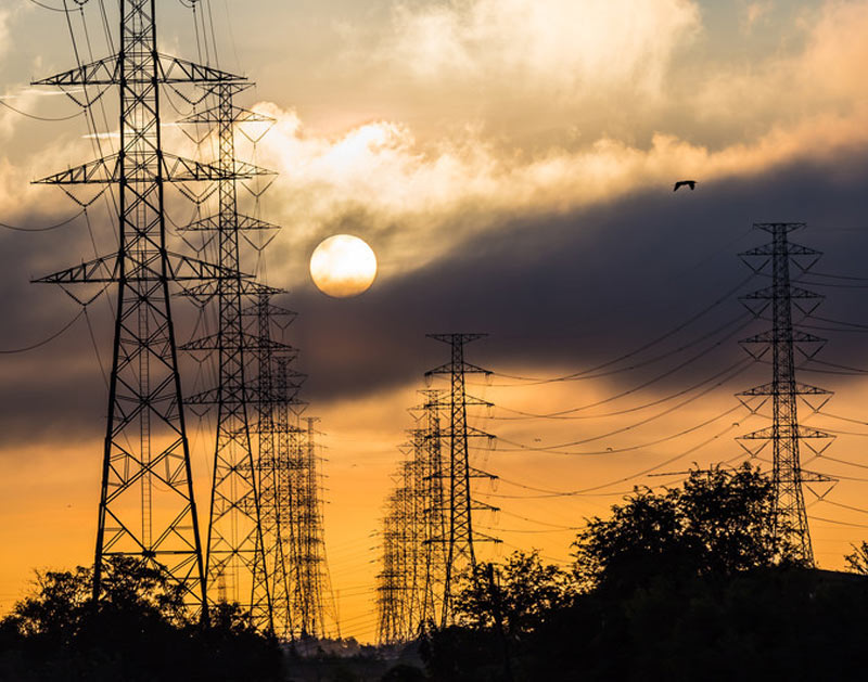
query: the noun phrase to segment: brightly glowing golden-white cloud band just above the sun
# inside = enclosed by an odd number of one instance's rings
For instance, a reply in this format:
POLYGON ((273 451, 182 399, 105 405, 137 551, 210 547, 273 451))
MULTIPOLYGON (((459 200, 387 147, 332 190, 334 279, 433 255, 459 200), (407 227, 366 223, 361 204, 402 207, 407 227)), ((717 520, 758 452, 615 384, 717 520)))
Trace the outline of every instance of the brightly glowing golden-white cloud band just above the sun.
POLYGON ((317 136, 294 112, 257 108, 278 120, 260 163, 280 172, 267 205, 292 229, 278 236, 281 268, 272 275, 291 287, 330 234, 361 236, 393 269, 421 268, 507 216, 565 214, 686 177, 709 183, 752 176, 868 138, 861 119, 817 115, 719 150, 656 133, 643 147, 604 137, 531 154, 496 147, 473 130, 422 144, 393 121, 317 136))

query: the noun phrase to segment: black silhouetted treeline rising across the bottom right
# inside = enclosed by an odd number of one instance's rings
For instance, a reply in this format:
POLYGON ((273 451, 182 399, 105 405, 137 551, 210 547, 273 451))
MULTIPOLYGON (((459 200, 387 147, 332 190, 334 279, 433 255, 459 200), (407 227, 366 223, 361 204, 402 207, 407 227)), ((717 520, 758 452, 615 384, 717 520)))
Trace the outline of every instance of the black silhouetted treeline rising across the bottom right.
POLYGON ((868 546, 852 572, 809 569, 773 532, 773 501, 748 465, 637 489, 589 520, 569 569, 520 552, 478 566, 459 625, 418 643, 424 675, 393 679, 868 679, 868 546))

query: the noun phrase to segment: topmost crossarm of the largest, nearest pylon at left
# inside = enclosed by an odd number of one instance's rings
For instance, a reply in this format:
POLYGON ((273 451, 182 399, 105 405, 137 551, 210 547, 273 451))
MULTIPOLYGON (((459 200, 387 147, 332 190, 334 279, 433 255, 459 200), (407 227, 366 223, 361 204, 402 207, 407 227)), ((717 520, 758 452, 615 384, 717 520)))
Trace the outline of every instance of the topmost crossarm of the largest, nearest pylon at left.
MULTIPOLYGON (((85 64, 69 70, 40 78, 31 81, 34 86, 56 86, 61 88, 73 86, 114 86, 118 85, 120 78, 122 57, 118 54, 106 56, 90 64, 85 64)), ((245 82, 244 76, 238 76, 228 72, 196 64, 177 56, 158 54, 156 59, 157 82, 163 83, 241 83, 245 82)), ((140 75, 133 73, 125 74, 124 81, 127 83, 146 85, 152 82, 152 77, 146 72, 140 75)))

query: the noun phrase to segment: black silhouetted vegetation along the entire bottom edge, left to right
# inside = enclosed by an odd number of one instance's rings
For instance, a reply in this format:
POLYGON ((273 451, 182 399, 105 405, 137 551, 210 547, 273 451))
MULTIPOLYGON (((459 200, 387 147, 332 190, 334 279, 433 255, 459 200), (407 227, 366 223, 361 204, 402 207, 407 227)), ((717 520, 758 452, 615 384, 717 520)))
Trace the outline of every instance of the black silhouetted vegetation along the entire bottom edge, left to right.
POLYGON ((299 660, 237 607, 184 619, 158 575, 44 574, 0 625, 0 680, 865 680, 868 545, 852 572, 812 570, 773 535, 771 487, 750 467, 637 489, 592 518, 569 569, 516 552, 465 576, 458 625, 340 660, 299 660))

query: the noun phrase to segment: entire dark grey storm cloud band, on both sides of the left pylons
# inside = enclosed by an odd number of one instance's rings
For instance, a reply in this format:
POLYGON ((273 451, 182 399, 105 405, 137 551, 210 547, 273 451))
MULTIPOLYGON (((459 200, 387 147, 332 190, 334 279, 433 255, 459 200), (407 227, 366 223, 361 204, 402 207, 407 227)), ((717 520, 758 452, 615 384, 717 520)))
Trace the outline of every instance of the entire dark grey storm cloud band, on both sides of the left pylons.
MULTIPOLYGON (((552 375, 605 362, 737 289, 750 274, 737 253, 766 241, 765 233, 750 230, 753 222, 806 222, 808 229, 793 240, 825 252, 819 272, 868 276, 868 151, 854 151, 834 164, 803 160, 750 178, 698 180, 695 192, 674 194, 663 186, 569 215, 515 216, 422 269, 401 274, 386 269, 357 298, 331 299, 312 285, 303 287, 280 303, 301 313, 288 339, 301 348, 301 369, 309 375, 305 397, 316 403, 421 385, 425 370, 448 359, 448 349, 426 339, 429 333, 490 334, 469 348, 468 358, 495 371, 521 368, 552 375)), ((44 222, 50 219, 25 219, 31 227, 44 222)), ((80 261, 92 249, 80 226, 5 233, 0 248, 5 293, 0 349, 10 349, 48 336, 77 311, 61 291, 29 280, 80 261)), ((868 324, 868 289, 858 288, 857 281, 809 281, 833 284, 816 287, 828 297, 821 314, 868 324)), ((755 278, 739 291, 766 283, 755 278)), ((195 311, 178 299, 175 310, 183 342, 193 332, 195 311)), ((732 293, 659 348, 672 350, 669 364, 676 364, 688 357, 677 351, 678 344, 702 337, 741 310, 732 293)), ((106 362, 112 311, 100 300, 90 317, 97 350, 106 362)), ((755 331, 762 329, 757 324, 755 331)), ((743 353, 737 340, 746 334, 732 335, 666 385, 695 382, 733 362, 743 353)), ((824 358, 868 366, 864 334, 827 336, 824 358)), ((710 336, 710 343, 718 337, 710 336)), ((690 352, 702 348, 695 345, 690 352)), ((197 366, 183 360, 188 393, 201 383, 197 366)), ((627 385, 665 366, 611 381, 627 385)), ((7 443, 102 435, 105 385, 84 319, 44 347, 0 355, 0 433, 7 443)), ((818 382, 830 378, 846 381, 818 382)))

